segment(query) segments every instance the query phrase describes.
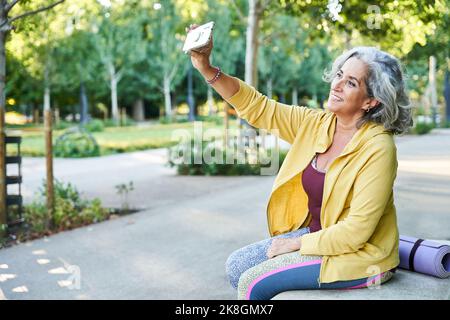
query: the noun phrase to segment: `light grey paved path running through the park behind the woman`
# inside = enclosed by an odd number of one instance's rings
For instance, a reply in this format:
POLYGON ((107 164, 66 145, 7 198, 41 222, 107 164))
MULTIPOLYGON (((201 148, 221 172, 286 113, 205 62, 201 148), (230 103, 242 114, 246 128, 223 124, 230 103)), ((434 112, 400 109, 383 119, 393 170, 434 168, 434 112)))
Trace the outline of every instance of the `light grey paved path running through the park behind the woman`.
MULTIPOLYGON (((397 147, 400 233, 450 240, 449 131, 397 147)), ((56 177, 108 206, 120 206, 114 186, 133 181, 130 204, 145 210, 0 250, 0 299, 235 299, 224 262, 267 237, 274 177, 180 177, 165 154, 56 160, 56 177)), ((43 176, 43 159, 24 160, 29 197, 43 176)), ((433 281, 431 296, 444 297, 450 279, 433 281)))

